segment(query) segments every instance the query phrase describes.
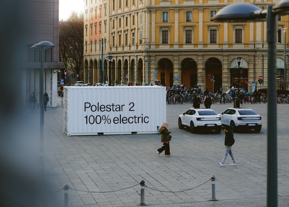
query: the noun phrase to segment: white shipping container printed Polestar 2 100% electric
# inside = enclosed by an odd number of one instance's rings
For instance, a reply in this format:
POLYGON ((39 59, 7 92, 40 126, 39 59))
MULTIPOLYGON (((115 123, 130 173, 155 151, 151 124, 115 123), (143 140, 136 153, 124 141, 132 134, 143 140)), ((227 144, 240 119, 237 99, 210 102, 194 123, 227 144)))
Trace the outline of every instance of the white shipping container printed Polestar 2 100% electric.
POLYGON ((64 86, 68 136, 158 133, 166 121, 163 86, 64 86))

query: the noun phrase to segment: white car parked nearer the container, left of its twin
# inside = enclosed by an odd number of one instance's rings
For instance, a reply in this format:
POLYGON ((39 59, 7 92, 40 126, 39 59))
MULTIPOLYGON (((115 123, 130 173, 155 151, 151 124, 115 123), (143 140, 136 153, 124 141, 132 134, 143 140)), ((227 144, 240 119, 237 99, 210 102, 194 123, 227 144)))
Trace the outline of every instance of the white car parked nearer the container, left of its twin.
POLYGON ((210 108, 190 108, 179 115, 179 128, 190 127, 191 133, 197 129, 212 130, 220 133, 222 130, 221 117, 210 108))

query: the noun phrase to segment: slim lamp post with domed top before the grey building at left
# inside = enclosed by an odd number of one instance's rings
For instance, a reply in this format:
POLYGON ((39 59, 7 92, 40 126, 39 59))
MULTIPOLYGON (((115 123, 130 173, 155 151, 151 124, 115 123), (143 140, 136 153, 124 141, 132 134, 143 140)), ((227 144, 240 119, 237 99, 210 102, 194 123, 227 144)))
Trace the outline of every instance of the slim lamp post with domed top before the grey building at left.
POLYGON ((40 49, 40 95, 39 95, 39 105, 40 105, 40 125, 39 125, 39 172, 40 176, 43 178, 44 176, 44 160, 43 160, 43 125, 44 125, 44 97, 43 97, 43 50, 47 50, 49 48, 54 48, 55 45, 53 45, 51 42, 48 41, 42 41, 37 44, 34 44, 31 46, 31 49, 40 49))

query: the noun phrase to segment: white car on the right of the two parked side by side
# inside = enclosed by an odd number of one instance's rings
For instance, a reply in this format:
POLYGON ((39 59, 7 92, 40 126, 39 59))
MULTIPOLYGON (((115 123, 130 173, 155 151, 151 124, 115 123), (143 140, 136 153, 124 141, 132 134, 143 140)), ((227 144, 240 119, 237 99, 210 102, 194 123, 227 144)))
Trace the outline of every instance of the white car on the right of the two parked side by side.
POLYGON ((232 130, 236 128, 254 129, 260 132, 262 128, 261 116, 250 108, 228 108, 221 114, 223 126, 230 126, 232 130))

